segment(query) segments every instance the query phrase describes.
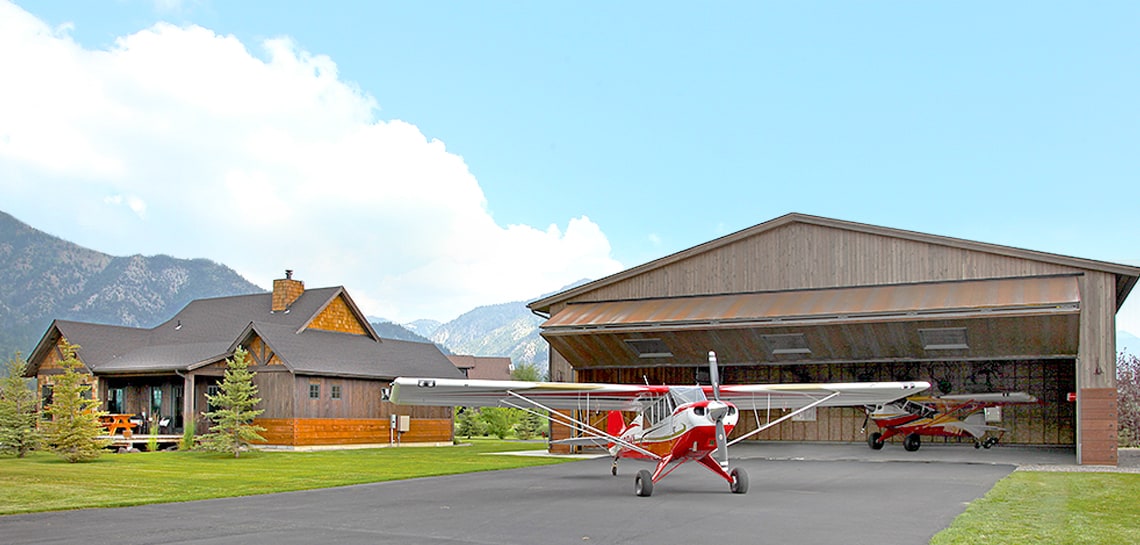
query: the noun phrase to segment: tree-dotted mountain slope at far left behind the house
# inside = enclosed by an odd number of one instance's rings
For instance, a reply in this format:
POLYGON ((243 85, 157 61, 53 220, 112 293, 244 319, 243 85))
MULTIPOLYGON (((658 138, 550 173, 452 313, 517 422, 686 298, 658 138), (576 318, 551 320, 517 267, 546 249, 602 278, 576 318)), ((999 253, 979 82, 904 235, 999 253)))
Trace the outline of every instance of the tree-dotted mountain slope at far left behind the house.
POLYGON ((259 293, 205 259, 113 257, 0 212, 0 357, 34 348, 52 319, 153 327, 203 298, 259 293))

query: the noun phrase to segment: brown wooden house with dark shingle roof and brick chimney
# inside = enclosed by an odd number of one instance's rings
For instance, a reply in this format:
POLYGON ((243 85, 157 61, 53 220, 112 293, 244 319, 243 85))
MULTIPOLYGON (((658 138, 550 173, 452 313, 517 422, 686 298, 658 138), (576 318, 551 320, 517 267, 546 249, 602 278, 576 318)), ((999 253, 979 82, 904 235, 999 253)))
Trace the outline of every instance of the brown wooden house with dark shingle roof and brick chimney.
POLYGON ((103 408, 144 420, 142 432, 202 432, 206 394, 238 347, 251 358, 268 445, 388 444, 390 418, 410 417, 401 442, 450 442, 450 408, 398 407, 384 390, 400 375, 463 377, 430 343, 380 339, 344 287, 306 290, 292 271, 271 293, 192 301, 153 328, 55 320, 28 358, 44 400, 63 373, 64 340, 103 408))

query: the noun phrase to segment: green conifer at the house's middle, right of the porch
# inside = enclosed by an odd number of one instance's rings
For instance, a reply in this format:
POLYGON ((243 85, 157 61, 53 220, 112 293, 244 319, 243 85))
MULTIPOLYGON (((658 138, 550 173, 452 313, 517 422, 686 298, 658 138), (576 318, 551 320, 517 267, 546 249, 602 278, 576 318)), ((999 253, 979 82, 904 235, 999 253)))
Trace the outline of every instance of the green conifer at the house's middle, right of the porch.
POLYGON ((253 425, 253 418, 264 413, 264 409, 253 407, 261 402, 258 387, 253 383, 256 373, 250 372, 249 353, 241 347, 234 351, 234 357, 226 360, 226 377, 217 394, 206 396, 210 405, 217 410, 206 413, 213 421, 210 433, 202 438, 202 448, 218 453, 234 453, 238 457, 244 448, 253 441, 264 441, 259 432, 266 431, 260 425, 253 425))

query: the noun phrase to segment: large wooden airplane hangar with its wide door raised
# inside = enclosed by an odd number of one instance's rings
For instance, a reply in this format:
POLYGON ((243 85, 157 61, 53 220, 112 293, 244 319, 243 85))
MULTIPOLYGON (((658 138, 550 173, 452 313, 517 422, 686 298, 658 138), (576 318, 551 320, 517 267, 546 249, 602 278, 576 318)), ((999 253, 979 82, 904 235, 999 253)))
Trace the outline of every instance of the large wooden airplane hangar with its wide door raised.
MULTIPOLYGON (((1138 277, 1124 265, 788 214, 529 308, 547 317, 555 381, 692 383, 715 350, 725 382, 1024 390, 1041 402, 1005 408, 1005 442, 1075 445, 1080 463, 1115 464, 1115 315, 1138 277)), ((755 423, 742 417, 735 433, 755 423)), ((759 439, 856 441, 862 425, 861 409, 821 409, 759 439)))

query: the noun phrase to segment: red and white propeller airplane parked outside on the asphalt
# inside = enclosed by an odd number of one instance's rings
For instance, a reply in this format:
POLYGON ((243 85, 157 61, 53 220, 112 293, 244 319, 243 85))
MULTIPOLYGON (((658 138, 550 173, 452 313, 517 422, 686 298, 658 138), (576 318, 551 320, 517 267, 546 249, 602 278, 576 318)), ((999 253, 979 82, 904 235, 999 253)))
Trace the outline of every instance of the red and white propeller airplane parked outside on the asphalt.
POLYGON ((657 464, 634 480, 638 496, 653 494, 653 485, 685 462, 698 462, 728 482, 735 494, 748 491, 748 473, 728 469, 728 446, 815 407, 882 405, 930 388, 928 382, 857 382, 826 384, 720 385, 716 353, 709 352, 707 387, 519 382, 399 377, 390 400, 399 405, 453 407, 513 407, 556 424, 580 437, 571 441, 609 447, 611 472, 618 461, 641 458, 657 464), (562 410, 610 412, 601 430, 562 410), (789 410, 760 423, 759 414, 789 410), (727 440, 740 410, 756 412, 756 429, 727 440), (620 412, 636 412, 628 424, 620 412))

